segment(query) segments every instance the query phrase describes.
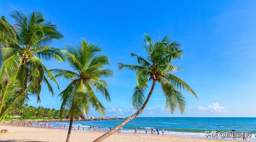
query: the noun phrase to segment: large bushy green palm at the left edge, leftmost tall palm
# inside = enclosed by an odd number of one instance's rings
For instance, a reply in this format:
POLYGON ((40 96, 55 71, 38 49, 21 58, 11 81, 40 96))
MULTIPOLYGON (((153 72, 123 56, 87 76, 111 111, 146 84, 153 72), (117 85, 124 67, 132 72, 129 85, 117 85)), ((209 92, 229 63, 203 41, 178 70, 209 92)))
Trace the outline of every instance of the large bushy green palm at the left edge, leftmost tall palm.
POLYGON ((11 25, 4 16, 0 18, 2 53, 0 82, 8 77, 10 86, 20 86, 20 91, 13 96, 12 103, 6 109, 0 110, 1 116, 14 107, 14 102, 19 102, 16 105, 26 102, 28 95, 36 95, 39 102, 43 83, 53 95, 52 86, 47 78, 49 77, 56 84, 57 82, 41 59, 54 58, 60 62, 64 61, 64 55, 59 49, 48 46, 53 39, 62 39, 63 35, 57 31, 56 25, 51 21, 45 21, 42 13, 32 12, 26 16, 14 10, 10 16, 15 21, 14 25, 11 25))

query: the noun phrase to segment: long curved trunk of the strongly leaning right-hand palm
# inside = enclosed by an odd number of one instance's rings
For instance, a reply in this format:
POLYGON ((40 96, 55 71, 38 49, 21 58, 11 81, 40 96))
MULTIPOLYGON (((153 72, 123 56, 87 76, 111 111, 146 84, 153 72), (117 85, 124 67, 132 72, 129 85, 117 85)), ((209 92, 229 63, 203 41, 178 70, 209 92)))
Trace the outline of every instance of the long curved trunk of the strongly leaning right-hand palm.
POLYGON ((134 115, 130 116, 128 119, 126 119, 125 121, 123 121, 122 123, 120 123, 119 125, 117 125, 115 128, 113 128, 112 130, 106 132, 105 134, 103 134, 102 136, 98 137, 96 140, 94 140, 93 142, 101 142, 102 140, 104 140, 105 138, 107 138, 108 136, 110 136, 111 134, 114 134, 114 132, 116 130, 118 130, 119 128, 121 128, 122 126, 124 126, 125 124, 129 123, 130 121, 132 121, 132 119, 134 119, 136 116, 138 116, 143 109, 146 107, 146 104, 148 103, 148 100, 150 99, 150 96, 154 90, 156 81, 153 80, 153 84, 152 87, 150 89, 150 92, 148 93, 148 97, 146 99, 146 101, 144 102, 143 106, 136 112, 134 113, 134 115))

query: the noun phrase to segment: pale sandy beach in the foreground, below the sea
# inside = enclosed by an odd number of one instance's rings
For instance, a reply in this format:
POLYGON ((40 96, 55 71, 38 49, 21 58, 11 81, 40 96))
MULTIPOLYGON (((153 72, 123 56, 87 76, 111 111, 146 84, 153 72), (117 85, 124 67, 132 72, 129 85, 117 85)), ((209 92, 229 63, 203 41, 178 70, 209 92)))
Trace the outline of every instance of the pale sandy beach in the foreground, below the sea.
MULTIPOLYGON (((24 140, 30 142, 63 142, 66 140, 68 130, 61 129, 49 129, 49 128, 36 128, 26 126, 9 126, 0 125, 0 130, 7 129, 8 133, 0 133, 0 140, 7 142, 13 142, 15 140, 24 140), (8 141, 9 140, 9 141, 8 141)), ((72 130, 70 141, 72 142, 84 142, 93 141, 95 138, 104 134, 104 132, 91 132, 91 131, 80 131, 72 130)), ((240 139, 239 139, 240 140, 240 139)), ((151 135, 151 134, 126 134, 126 133, 115 133, 110 137, 106 138, 103 142, 146 142, 146 141, 157 141, 157 142, 234 142, 234 140, 223 140, 223 139, 210 139, 210 138, 194 138, 184 136, 162 136, 162 135, 151 135)))

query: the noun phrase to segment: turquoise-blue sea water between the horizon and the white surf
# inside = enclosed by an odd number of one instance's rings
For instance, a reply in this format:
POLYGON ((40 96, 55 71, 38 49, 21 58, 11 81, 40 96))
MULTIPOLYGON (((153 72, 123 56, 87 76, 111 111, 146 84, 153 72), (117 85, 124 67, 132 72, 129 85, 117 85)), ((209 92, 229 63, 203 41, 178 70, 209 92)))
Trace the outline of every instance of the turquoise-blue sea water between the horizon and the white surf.
MULTIPOLYGON (((73 124, 82 124, 84 126, 98 125, 102 128, 114 127, 124 120, 108 120, 108 121, 75 121, 73 124)), ((68 122, 58 122, 67 123, 68 122)), ((159 128, 175 132, 205 132, 206 130, 218 131, 252 131, 256 133, 256 118, 208 118, 208 117, 155 117, 155 118, 135 118, 130 123, 123 126, 123 129, 159 128)), ((58 124, 56 124, 58 125, 58 124)))

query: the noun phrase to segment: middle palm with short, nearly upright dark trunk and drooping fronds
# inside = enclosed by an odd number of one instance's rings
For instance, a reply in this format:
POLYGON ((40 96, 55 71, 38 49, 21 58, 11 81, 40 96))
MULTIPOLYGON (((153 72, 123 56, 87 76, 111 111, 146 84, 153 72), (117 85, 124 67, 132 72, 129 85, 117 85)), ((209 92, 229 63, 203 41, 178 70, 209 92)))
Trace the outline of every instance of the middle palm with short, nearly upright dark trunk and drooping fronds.
POLYGON ((71 83, 62 91, 59 96, 62 98, 60 107, 60 118, 63 117, 65 109, 68 109, 70 124, 66 142, 69 141, 74 118, 83 114, 86 115, 90 106, 94 107, 101 115, 105 114, 105 107, 96 97, 94 91, 104 95, 107 101, 110 96, 106 89, 107 82, 102 78, 112 76, 112 70, 102 69, 109 64, 108 56, 99 55, 100 47, 88 44, 83 40, 77 48, 69 46, 63 50, 67 55, 68 63, 74 70, 51 70, 54 78, 60 76, 70 80, 71 83))

